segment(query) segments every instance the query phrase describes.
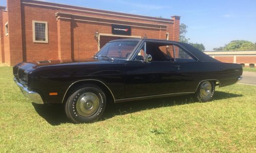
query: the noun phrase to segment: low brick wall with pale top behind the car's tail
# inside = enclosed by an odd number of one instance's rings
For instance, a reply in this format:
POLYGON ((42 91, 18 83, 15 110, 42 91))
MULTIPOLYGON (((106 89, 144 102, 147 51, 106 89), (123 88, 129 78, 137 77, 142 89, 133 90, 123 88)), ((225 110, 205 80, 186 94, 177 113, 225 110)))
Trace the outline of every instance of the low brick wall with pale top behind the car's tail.
POLYGON ((256 65, 256 50, 211 51, 204 53, 221 62, 238 63, 244 67, 254 67, 256 65))

